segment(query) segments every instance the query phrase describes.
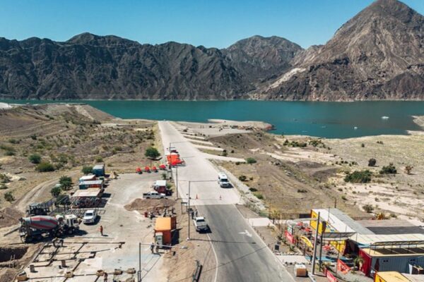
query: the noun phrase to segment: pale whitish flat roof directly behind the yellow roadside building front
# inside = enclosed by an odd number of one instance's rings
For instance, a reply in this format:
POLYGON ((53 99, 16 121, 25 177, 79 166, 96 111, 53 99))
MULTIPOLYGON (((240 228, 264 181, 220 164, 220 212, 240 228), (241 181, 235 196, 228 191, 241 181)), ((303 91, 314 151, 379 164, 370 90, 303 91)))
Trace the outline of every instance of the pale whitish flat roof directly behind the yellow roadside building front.
POLYGON ((354 221, 340 209, 312 209, 319 217, 327 222, 327 227, 334 229, 335 232, 356 232, 359 234, 374 234, 368 228, 354 221))

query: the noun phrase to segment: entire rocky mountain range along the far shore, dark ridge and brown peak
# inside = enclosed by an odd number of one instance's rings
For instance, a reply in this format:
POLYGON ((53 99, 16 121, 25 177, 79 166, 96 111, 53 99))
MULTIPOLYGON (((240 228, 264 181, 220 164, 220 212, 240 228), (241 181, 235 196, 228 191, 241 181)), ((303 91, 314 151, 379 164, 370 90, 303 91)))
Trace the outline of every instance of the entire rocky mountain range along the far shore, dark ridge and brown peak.
POLYGON ((424 99, 424 17, 377 0, 322 46, 254 36, 226 49, 0 37, 0 97, 12 99, 424 99))

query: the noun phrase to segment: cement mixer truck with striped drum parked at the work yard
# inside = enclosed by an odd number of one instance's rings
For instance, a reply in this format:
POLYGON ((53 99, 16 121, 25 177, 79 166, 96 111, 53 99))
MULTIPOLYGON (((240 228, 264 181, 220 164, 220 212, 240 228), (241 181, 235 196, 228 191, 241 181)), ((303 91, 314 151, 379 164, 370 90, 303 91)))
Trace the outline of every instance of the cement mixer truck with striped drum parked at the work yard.
POLYGON ((61 237, 73 234, 79 229, 78 218, 73 214, 65 216, 30 216, 19 219, 20 240, 28 243, 44 237, 61 237))

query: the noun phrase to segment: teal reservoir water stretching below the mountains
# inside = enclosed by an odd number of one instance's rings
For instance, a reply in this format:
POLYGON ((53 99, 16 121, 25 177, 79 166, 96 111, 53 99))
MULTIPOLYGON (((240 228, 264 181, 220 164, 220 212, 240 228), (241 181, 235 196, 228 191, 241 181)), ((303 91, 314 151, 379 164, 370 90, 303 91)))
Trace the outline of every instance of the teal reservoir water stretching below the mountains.
POLYGON ((424 102, 0 100, 16 104, 86 103, 119 118, 206 122, 209 118, 265 121, 272 133, 347 138, 407 134, 422 130, 412 116, 424 116, 424 102), (382 118, 387 116, 388 118, 382 118))

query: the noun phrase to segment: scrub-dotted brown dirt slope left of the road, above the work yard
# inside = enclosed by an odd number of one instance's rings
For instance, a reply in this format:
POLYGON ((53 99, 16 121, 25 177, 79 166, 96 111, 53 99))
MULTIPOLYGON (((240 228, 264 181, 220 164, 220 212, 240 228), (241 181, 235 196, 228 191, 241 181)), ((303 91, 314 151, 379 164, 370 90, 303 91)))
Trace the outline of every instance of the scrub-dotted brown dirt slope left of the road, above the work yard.
POLYGON ((123 173, 156 164, 143 152, 157 142, 157 130, 154 122, 115 119, 88 105, 23 105, 0 110, 0 176, 12 177, 0 183, 0 207, 20 203, 18 209, 24 211, 28 202, 20 198, 33 188, 44 192, 28 200, 47 200, 60 176, 75 176, 76 183, 82 166, 105 163, 107 171, 123 173), (37 164, 29 160, 33 154, 51 163, 55 171, 35 171, 37 164), (6 201, 6 192, 14 200, 6 201))

